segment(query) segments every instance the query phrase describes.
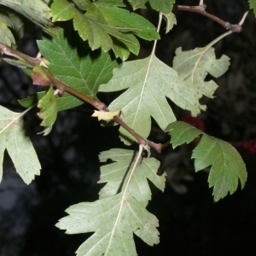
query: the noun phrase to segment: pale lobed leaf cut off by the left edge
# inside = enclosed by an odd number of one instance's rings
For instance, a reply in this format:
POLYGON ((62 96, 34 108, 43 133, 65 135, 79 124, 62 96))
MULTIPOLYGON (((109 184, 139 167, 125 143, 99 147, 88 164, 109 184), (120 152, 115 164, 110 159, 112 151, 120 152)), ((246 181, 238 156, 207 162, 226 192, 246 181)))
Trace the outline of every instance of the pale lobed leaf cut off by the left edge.
POLYGON ((3 154, 7 150, 16 172, 26 184, 40 174, 38 156, 23 128, 24 113, 15 113, 0 106, 0 181, 3 176, 3 154))

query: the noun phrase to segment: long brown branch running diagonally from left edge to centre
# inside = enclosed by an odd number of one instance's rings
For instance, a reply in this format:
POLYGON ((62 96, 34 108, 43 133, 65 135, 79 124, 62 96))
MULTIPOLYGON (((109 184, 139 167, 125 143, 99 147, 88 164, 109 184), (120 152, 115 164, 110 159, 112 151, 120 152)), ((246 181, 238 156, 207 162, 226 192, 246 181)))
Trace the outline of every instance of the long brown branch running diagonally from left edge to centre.
MULTIPOLYGON (((8 45, 3 44, 0 42, 0 51, 3 52, 5 55, 10 55, 14 56, 15 58, 25 60, 27 63, 29 63, 32 67, 35 67, 36 65, 39 65, 41 61, 43 60, 40 57, 33 58, 29 55, 25 55, 21 53, 17 49, 12 49, 8 45)), ((72 87, 68 86, 67 84, 62 83, 59 79, 56 79, 55 76, 52 73, 49 73, 47 69, 44 68, 44 73, 47 75, 49 78, 50 82, 52 84, 55 84, 56 88, 63 93, 66 91, 67 93, 79 98, 80 100, 89 103, 92 105, 94 108, 100 110, 100 111, 105 111, 108 112, 107 106, 103 103, 100 102, 96 99, 90 98, 89 96, 84 95, 83 93, 79 92, 78 90, 73 89, 72 87)), ((138 134, 136 131, 131 129, 130 126, 126 125, 125 122, 119 117, 119 115, 116 115, 113 117, 113 120, 118 124, 121 125, 126 131, 128 131, 133 137, 137 139, 137 142, 142 145, 143 147, 149 146, 151 148, 154 148, 158 153, 161 152, 162 147, 165 145, 162 145, 160 143, 154 143, 149 141, 148 139, 145 139, 142 137, 140 134, 138 134)))

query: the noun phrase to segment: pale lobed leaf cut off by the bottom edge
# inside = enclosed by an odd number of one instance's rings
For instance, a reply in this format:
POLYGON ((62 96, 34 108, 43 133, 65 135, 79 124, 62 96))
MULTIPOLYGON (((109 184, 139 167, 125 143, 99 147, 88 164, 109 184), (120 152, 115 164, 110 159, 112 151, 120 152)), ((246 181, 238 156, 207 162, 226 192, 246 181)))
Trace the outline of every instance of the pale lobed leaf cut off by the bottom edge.
POLYGON ((78 256, 137 255, 133 233, 149 245, 159 243, 157 218, 124 193, 68 207, 56 224, 67 234, 95 232, 76 251, 78 256))

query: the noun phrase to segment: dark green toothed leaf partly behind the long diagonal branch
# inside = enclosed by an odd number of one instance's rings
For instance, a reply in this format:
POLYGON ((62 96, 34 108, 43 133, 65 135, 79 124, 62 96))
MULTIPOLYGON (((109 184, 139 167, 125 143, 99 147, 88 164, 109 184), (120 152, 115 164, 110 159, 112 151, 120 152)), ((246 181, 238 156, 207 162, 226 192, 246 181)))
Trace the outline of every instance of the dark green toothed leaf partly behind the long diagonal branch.
MULTIPOLYGON (((113 75, 113 67, 118 66, 118 61, 101 50, 94 53, 88 51, 84 55, 79 55, 78 49, 68 43, 63 32, 52 40, 44 38, 38 41, 38 47, 40 53, 50 62, 50 73, 75 90, 94 98, 96 98, 99 84, 107 83, 113 75)), ((44 92, 29 96, 19 102, 27 108, 42 96, 44 92)), ((74 108, 84 103, 66 92, 61 97, 55 97, 58 111, 74 108)))

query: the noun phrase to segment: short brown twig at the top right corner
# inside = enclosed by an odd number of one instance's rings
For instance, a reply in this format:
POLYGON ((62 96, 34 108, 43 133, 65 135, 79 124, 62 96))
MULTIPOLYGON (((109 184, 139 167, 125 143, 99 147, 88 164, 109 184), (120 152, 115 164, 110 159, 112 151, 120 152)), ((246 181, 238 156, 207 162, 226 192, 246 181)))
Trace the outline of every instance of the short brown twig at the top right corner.
POLYGON ((174 5, 173 9, 176 9, 178 11, 186 11, 186 12, 192 12, 197 13, 200 15, 207 16, 207 18, 217 22, 221 26, 224 26, 226 30, 230 30, 231 32, 241 32, 241 25, 240 24, 230 24, 230 22, 221 20, 217 16, 214 16, 212 14, 207 13, 207 5, 203 3, 203 1, 200 2, 197 6, 186 6, 186 5, 174 5))

